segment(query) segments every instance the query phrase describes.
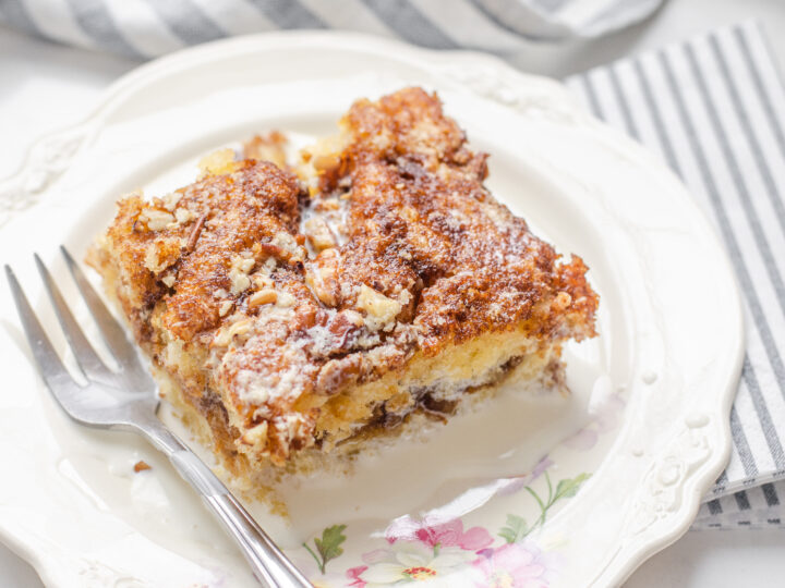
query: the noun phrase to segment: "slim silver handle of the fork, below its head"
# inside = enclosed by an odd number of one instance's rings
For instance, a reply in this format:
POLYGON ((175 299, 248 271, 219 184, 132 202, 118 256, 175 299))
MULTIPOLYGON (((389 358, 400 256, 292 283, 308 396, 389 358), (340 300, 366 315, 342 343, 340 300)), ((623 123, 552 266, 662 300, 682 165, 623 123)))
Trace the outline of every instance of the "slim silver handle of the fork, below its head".
POLYGON ((143 429, 145 437, 160 451, 202 497, 226 531, 240 547, 254 576, 270 588, 311 588, 311 583, 256 524, 213 470, 162 426, 143 429))

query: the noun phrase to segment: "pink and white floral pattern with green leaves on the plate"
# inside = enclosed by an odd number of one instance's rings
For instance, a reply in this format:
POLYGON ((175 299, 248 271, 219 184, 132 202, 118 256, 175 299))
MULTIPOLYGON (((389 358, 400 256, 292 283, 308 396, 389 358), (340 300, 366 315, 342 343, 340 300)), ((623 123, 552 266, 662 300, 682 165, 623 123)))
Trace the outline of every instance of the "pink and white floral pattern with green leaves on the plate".
MULTIPOLYGON (((498 542, 487 528, 467 528, 460 518, 434 523, 428 517, 418 522, 402 516, 385 530, 385 547, 363 553, 362 565, 347 569, 343 586, 382 588, 427 581, 428 586, 445 587, 546 588, 558 568, 558 553, 544 551, 529 536, 545 524, 557 502, 575 497, 590 475, 565 478, 554 486, 544 464, 550 462, 541 462, 540 471, 529 480, 542 475, 547 494, 541 491, 541 495, 531 483, 523 487, 540 509, 533 524, 508 514, 496 534, 502 539, 498 542)), ((315 550, 303 543, 322 572, 317 586, 336 585, 335 576, 325 576, 325 567, 342 554, 345 529, 345 525, 324 529, 322 537, 313 540, 315 550)))

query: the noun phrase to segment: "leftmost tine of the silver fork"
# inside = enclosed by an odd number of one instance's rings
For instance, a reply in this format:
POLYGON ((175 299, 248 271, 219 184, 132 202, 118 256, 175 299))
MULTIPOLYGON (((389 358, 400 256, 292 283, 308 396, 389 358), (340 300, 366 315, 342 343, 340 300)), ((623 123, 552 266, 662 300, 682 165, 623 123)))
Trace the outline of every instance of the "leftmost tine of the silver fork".
POLYGON ((16 310, 19 311, 22 327, 27 336, 27 342, 33 350, 33 356, 38 365, 38 370, 44 377, 44 381, 49 387, 49 390, 51 390, 58 402, 62 404, 60 400, 61 393, 75 393, 78 392, 81 388, 60 360, 60 356, 46 335, 46 331, 44 331, 33 308, 31 308, 27 296, 25 296, 22 291, 16 275, 14 275, 13 270, 8 265, 5 266, 5 277, 11 286, 16 310))

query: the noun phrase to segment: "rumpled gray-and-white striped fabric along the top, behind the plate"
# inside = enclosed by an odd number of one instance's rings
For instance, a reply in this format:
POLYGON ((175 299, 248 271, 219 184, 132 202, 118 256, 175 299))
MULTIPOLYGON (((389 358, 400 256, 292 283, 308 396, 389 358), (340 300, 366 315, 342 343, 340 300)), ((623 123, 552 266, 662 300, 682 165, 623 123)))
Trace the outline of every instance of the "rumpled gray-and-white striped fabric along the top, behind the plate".
POLYGON ((0 0, 0 21, 38 37, 147 59, 221 37, 341 28, 435 49, 519 51, 594 37, 662 0, 0 0))

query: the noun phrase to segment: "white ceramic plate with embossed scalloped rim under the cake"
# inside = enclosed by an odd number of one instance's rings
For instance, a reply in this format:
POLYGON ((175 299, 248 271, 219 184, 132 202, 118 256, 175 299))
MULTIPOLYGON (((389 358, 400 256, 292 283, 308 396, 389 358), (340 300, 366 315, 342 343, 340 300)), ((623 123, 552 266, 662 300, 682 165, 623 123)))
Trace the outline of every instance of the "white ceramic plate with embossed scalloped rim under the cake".
MULTIPOLYGON (((4 261, 56 330, 33 249, 71 297, 57 245, 83 254, 119 195, 188 182, 201 155, 258 131, 329 133, 353 99, 412 84, 438 90, 472 144, 492 154, 496 196, 560 252, 585 259, 602 334, 567 348, 569 399, 507 390, 427 443, 367 456, 349 478, 292 486, 288 519, 251 507, 322 585, 619 584, 688 528, 725 465, 739 298, 678 181, 555 82, 480 54, 358 35, 190 49, 122 78, 84 124, 44 139, 0 186, 4 261), (313 539, 334 525, 346 527, 326 540, 338 539, 342 553, 319 569, 313 539)), ((59 412, 5 287, 0 301, 3 540, 51 586, 252 585, 165 460, 59 412), (134 474, 140 458, 153 469, 134 474)), ((56 343, 64 350, 62 338, 56 343)))

